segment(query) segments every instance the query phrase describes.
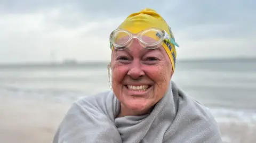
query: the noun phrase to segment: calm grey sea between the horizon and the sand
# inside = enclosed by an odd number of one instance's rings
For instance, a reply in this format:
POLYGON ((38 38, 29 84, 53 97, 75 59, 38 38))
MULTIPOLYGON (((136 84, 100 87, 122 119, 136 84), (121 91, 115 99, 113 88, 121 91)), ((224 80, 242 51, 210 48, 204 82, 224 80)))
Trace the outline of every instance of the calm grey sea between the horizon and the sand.
MULTIPOLYGON (((71 103, 110 90, 107 64, 2 64, 0 97, 71 103)), ((172 80, 219 123, 256 123, 256 58, 178 60, 172 80)))

